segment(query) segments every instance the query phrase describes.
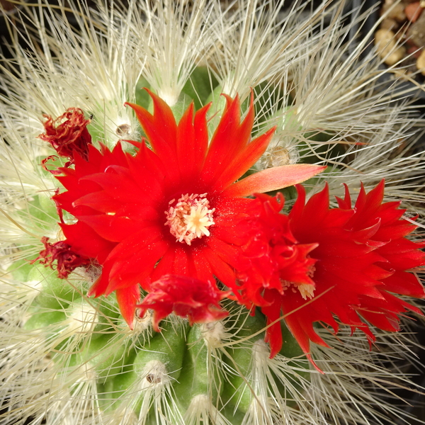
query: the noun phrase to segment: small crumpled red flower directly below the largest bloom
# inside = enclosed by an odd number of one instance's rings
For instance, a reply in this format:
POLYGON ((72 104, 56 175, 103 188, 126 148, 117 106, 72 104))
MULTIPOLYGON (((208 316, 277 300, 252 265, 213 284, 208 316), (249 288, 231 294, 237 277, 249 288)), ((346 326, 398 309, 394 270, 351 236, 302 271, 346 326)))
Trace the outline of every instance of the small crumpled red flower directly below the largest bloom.
POLYGON ((137 305, 140 316, 147 309, 154 310, 153 326, 159 331, 158 324, 171 312, 187 317, 189 323, 214 322, 229 314, 220 307, 220 301, 229 292, 217 289, 215 283, 187 276, 162 276, 152 283, 151 292, 137 305))

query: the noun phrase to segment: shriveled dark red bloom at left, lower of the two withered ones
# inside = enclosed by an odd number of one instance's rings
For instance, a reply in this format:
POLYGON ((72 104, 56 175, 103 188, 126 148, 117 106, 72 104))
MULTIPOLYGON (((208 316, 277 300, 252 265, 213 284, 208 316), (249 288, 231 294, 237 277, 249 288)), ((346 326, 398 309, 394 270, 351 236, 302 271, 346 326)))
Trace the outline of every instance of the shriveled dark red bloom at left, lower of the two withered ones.
POLYGON ((41 238, 41 242, 44 244, 45 249, 42 249, 39 256, 30 261, 30 263, 33 264, 35 261, 40 260, 40 264, 53 268, 53 263, 56 261, 57 275, 61 279, 67 278, 69 273, 74 271, 75 268, 90 266, 92 263, 91 259, 72 251, 71 245, 67 244, 67 242, 59 241, 52 244, 49 242, 49 238, 45 236, 41 238))

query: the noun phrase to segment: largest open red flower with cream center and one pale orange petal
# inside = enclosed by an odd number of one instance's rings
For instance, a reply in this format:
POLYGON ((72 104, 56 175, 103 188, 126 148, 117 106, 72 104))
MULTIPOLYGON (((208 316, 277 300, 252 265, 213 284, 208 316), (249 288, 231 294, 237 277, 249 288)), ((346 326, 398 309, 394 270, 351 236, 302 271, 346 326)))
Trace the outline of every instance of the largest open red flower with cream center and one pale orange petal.
POLYGON ((208 144, 209 106, 193 114, 193 104, 176 125, 169 106, 150 93, 154 115, 131 106, 147 140, 134 142, 132 156, 121 149, 99 152, 89 146, 87 159, 76 154, 75 169, 57 177, 67 189, 54 197, 77 222, 62 225, 67 243, 81 256, 103 266, 91 288, 96 296, 116 291, 125 320, 132 326, 139 284, 167 274, 235 285, 244 227, 240 220, 253 200, 244 198, 293 185, 324 167, 307 164, 267 169, 237 181, 259 159, 274 129, 250 140, 253 99, 240 122, 239 99, 227 106, 208 144), (237 181, 234 183, 234 181, 237 181))

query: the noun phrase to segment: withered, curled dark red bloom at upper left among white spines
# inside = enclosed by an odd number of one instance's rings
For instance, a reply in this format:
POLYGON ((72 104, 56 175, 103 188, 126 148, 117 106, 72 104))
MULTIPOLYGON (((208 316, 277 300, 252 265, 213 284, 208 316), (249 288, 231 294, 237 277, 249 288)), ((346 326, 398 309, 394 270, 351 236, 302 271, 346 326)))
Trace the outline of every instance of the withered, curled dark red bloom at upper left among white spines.
POLYGON ((84 159, 89 157, 91 135, 87 130, 87 125, 90 120, 84 118, 81 109, 68 108, 67 112, 56 120, 53 120, 50 115, 43 115, 43 117, 47 118, 43 124, 45 132, 38 137, 49 142, 60 157, 69 159, 66 166, 74 164, 74 154, 76 153, 84 159))

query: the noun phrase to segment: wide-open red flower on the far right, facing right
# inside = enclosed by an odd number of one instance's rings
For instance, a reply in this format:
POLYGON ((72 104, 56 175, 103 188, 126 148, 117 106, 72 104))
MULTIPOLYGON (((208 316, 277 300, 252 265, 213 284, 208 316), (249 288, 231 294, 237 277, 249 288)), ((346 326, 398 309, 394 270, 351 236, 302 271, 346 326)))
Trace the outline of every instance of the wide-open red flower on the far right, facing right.
MULTIPOLYGON (((374 341, 368 323, 385 331, 397 331, 399 314, 407 310, 420 313, 394 294, 425 296, 418 278, 409 271, 425 264, 425 254, 420 250, 425 244, 406 238, 416 226, 402 219, 405 210, 398 209, 398 202, 382 203, 383 181, 369 193, 365 193, 362 186, 354 208, 351 208, 347 188, 345 199, 338 200, 339 208, 331 209, 327 187, 307 203, 304 188, 298 185, 297 191, 297 201, 288 217, 279 215, 282 204, 277 206, 277 200, 268 196, 259 198, 263 208, 274 213, 273 220, 269 221, 271 229, 263 231, 263 243, 268 241, 270 253, 276 249, 284 253, 283 266, 273 254, 267 254, 273 264, 268 269, 263 267, 266 276, 271 276, 269 281, 285 276, 288 251, 295 252, 297 246, 316 246, 311 250, 304 248, 304 253, 295 259, 298 265, 292 266, 302 272, 314 261, 304 281, 297 275, 289 281, 283 277, 284 284, 280 287, 263 285, 261 302, 258 297, 254 298, 256 305, 263 306, 268 324, 276 321, 267 331, 271 356, 282 346, 279 318, 283 315, 288 328, 312 361, 310 341, 326 346, 314 330, 314 322, 327 324, 336 333, 339 323, 335 318, 338 318, 353 331, 361 329, 370 341, 374 341), (289 230, 285 227, 287 224, 289 230), (300 290, 300 282, 307 285, 309 281, 314 283, 314 288, 310 285, 310 290, 300 290)), ((255 270, 252 275, 244 276, 242 293, 249 293, 251 285, 259 290, 255 270)))

